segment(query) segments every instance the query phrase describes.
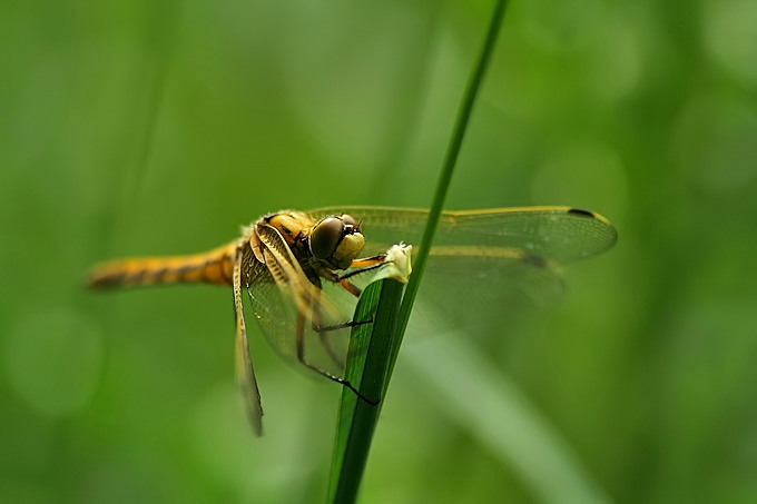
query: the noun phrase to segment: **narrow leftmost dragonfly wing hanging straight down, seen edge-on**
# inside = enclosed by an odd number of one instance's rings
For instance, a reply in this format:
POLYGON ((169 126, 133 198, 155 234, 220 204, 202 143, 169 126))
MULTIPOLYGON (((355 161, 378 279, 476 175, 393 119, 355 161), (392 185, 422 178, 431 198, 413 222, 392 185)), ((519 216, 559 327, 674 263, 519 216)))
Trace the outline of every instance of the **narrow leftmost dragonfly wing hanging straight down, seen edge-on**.
POLYGON ((234 312, 236 315, 236 375, 242 396, 245 402, 247 417, 253 426, 255 435, 263 435, 263 406, 260 405, 260 392, 255 379, 253 360, 249 357, 249 344, 247 343, 247 327, 242 304, 242 249, 237 250, 234 263, 234 312))

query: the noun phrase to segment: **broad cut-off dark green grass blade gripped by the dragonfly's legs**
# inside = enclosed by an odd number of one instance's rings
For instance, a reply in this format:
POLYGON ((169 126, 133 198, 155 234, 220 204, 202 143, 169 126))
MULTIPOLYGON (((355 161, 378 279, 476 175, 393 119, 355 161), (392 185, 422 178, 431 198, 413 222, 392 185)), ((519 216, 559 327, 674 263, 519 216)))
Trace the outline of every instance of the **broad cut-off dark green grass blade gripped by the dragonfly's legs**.
MULTIPOLYGON (((383 279, 368 285, 355 308, 345 379, 364 397, 381 401, 396 340, 403 285, 383 279)), ((372 405, 343 388, 327 502, 355 502, 382 404, 372 405)))

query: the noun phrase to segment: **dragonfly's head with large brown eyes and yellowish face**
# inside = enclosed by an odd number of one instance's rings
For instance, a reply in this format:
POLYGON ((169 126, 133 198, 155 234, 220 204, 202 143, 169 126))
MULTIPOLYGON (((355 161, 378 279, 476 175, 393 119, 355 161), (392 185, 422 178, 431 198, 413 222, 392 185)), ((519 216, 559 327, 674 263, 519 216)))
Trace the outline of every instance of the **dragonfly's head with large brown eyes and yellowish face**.
POLYGON ((309 237, 311 254, 335 269, 347 269, 363 250, 365 237, 360 224, 343 214, 328 216, 313 226, 309 237))

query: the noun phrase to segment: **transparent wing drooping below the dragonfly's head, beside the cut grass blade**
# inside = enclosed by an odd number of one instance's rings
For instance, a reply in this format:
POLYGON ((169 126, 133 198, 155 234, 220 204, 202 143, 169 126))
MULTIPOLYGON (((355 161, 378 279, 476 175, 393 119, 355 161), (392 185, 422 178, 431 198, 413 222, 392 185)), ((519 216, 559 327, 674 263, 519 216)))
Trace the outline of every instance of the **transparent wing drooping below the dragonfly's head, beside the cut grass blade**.
POLYGON ((341 326, 350 316, 309 281, 276 229, 262 226, 258 237, 265 264, 255 263, 248 293, 260 330, 283 357, 295 364, 302 364, 297 352, 302 338, 309 364, 342 376, 350 329, 341 326), (304 324, 297 324, 299 318, 304 324), (317 333, 314 327, 335 328, 317 333))

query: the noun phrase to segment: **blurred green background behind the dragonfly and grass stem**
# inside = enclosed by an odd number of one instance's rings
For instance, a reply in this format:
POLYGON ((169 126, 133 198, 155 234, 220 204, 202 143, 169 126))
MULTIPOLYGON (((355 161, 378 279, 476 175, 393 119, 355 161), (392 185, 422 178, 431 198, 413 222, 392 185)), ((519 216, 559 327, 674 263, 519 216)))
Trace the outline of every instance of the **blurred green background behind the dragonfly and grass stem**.
MULTIPOLYGON (((253 328, 255 439, 228 290, 85 271, 429 206, 492 7, 2 3, 0 502, 323 502, 337 386, 253 328)), ((620 240, 485 349, 409 339, 362 502, 757 501, 756 19, 512 2, 448 207, 578 206, 620 240)))

